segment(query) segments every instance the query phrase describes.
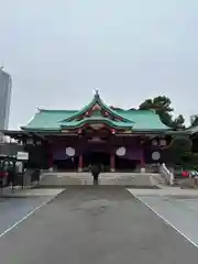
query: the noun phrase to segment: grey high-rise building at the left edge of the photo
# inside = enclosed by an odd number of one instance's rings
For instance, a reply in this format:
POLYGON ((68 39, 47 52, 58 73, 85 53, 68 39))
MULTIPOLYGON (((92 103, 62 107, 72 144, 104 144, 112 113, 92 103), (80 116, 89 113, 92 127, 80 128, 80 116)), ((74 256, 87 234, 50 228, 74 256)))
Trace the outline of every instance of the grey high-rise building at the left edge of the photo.
POLYGON ((11 89, 11 76, 0 68, 0 130, 9 125, 11 89))

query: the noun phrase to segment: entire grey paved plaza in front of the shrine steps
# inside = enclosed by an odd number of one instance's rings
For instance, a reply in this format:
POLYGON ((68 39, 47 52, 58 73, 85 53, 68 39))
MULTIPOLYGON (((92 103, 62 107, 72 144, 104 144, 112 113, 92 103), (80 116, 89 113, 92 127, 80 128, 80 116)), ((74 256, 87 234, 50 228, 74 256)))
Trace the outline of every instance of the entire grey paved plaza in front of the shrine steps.
POLYGON ((121 186, 24 190, 24 199, 0 202, 1 263, 197 263, 190 235, 198 194, 190 194, 121 186))

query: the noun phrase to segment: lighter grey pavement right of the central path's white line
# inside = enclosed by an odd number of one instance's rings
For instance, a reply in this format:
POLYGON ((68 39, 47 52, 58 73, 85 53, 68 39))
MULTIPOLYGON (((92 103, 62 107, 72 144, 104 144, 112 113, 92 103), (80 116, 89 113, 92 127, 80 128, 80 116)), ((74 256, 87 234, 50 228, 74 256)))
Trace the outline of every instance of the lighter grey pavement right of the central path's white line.
POLYGON ((164 189, 128 189, 164 222, 198 248, 198 190, 167 187, 164 189))

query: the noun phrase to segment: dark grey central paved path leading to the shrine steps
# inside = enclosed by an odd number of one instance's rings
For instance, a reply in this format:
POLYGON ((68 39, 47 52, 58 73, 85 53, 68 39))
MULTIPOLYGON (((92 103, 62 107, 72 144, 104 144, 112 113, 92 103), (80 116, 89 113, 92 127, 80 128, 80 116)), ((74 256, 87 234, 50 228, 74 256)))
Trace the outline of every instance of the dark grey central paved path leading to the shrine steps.
POLYGON ((198 250, 124 188, 68 187, 0 239, 3 264, 197 264, 198 250))

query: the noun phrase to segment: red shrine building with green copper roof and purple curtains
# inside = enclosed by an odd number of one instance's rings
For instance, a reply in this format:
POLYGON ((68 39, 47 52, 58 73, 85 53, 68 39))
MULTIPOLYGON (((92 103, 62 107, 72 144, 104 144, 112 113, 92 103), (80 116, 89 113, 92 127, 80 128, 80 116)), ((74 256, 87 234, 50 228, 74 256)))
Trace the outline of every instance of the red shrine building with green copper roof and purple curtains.
POLYGON ((122 110, 107 106, 96 92, 80 110, 38 109, 19 131, 3 131, 24 145, 29 165, 84 172, 100 163, 106 172, 145 170, 162 163, 176 131, 153 110, 122 110))

